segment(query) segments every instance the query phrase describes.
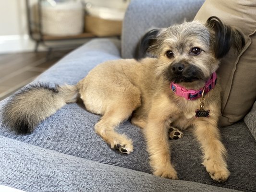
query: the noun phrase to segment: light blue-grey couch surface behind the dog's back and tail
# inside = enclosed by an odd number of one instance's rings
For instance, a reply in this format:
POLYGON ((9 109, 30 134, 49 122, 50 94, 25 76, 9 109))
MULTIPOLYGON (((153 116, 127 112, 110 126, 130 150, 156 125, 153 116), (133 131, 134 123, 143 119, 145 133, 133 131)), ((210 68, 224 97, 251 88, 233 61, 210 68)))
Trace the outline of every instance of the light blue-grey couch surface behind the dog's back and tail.
POLYGON ((43 72, 33 82, 55 84, 76 84, 96 65, 121 59, 120 40, 116 38, 96 38, 73 50, 67 56, 43 72))

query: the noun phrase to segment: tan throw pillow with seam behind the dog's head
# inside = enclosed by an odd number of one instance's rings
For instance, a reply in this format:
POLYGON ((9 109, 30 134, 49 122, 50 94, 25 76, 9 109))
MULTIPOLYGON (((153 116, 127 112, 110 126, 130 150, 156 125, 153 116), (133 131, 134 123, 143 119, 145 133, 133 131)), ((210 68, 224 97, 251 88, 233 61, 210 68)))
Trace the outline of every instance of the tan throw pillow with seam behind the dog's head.
POLYGON ((221 125, 241 120, 256 100, 256 1, 206 0, 195 20, 210 16, 238 27, 245 36, 245 47, 238 55, 230 53, 221 61, 218 74, 223 89, 221 125))

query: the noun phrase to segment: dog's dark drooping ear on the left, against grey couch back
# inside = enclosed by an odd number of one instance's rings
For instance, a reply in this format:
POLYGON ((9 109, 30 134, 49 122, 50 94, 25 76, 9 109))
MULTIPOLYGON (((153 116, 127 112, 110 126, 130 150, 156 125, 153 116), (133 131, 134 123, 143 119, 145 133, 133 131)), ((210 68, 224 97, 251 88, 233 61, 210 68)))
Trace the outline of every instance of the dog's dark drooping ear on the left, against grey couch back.
POLYGON ((134 58, 140 60, 146 57, 146 54, 149 53, 151 57, 156 57, 157 55, 157 37, 160 29, 152 29, 148 31, 137 44, 134 58))

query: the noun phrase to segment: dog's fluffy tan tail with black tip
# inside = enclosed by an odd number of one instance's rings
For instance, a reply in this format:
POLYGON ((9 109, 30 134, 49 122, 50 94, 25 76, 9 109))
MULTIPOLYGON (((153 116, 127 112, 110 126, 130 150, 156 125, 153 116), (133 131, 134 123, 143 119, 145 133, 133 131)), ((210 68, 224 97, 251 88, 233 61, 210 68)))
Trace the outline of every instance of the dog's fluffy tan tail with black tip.
POLYGON ((78 97, 76 85, 57 85, 55 88, 47 84, 28 85, 4 106, 3 120, 18 133, 30 133, 41 121, 64 105, 76 102, 78 97))

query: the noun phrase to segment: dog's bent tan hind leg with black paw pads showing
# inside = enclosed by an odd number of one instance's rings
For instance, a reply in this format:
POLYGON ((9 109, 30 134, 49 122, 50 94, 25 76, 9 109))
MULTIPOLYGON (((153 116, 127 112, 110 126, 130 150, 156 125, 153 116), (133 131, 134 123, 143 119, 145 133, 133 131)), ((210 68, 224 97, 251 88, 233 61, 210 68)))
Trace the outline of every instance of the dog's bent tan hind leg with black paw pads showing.
POLYGON ((119 150, 124 154, 130 154, 133 151, 133 142, 125 134, 117 133, 115 128, 131 116, 135 107, 129 103, 129 100, 115 104, 115 106, 109 106, 110 110, 107 110, 101 120, 95 124, 95 131, 104 141, 111 148, 119 150))

